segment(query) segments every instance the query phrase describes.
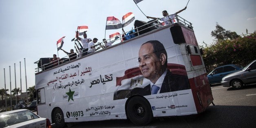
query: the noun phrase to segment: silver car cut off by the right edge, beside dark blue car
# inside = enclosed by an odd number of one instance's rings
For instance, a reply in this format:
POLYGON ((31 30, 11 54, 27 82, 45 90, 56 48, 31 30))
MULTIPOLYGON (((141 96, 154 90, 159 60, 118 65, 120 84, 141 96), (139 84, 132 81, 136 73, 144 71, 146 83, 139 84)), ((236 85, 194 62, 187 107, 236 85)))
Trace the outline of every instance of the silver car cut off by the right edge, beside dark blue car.
POLYGON ((243 70, 231 73, 222 78, 223 87, 243 88, 246 84, 256 83, 256 60, 245 66, 243 70))

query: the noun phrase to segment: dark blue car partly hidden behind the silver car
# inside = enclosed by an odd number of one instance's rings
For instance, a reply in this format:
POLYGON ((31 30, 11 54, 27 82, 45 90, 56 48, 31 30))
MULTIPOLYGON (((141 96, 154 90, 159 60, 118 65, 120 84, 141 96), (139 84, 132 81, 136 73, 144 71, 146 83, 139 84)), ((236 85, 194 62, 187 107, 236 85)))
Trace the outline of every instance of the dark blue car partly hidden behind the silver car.
POLYGON ((224 66, 219 66, 215 68, 211 73, 207 75, 210 84, 221 83, 221 79, 230 73, 240 71, 241 66, 235 64, 229 64, 224 66))

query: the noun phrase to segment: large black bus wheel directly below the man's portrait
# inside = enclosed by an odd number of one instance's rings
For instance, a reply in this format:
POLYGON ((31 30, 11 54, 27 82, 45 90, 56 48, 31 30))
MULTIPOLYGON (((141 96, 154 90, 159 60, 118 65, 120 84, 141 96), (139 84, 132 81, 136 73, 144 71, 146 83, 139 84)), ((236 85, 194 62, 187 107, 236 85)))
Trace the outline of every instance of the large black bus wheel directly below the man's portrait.
POLYGON ((153 120, 151 106, 142 97, 132 97, 126 106, 127 116, 135 125, 146 125, 153 120))

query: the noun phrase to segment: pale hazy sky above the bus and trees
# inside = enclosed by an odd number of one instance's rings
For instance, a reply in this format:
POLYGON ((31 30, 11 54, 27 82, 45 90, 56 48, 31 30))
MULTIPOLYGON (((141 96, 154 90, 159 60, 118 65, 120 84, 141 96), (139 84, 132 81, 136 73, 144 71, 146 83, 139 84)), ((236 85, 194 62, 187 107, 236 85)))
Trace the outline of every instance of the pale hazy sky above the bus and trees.
MULTIPOLYGON (((187 2, 143 0, 137 5, 145 15, 161 18, 163 10, 172 14, 183 9, 187 2)), ((141 11, 133 0, 0 0, 0 89, 4 88, 4 68, 7 89, 10 90, 10 83, 11 88, 15 88, 15 71, 16 86, 20 87, 21 79, 22 92, 26 92, 26 85, 27 88, 34 86, 37 68, 34 62, 53 54, 66 56, 63 51, 57 53, 56 42, 66 36, 62 49, 68 52, 74 49, 71 39, 77 26, 88 26, 88 38, 102 41, 108 16, 122 22, 122 16, 132 12, 135 20, 149 21, 141 11)), ((203 45, 203 41, 212 44, 211 31, 216 22, 238 35, 246 33, 246 29, 248 33, 256 30, 255 0, 190 0, 187 9, 178 15, 192 23, 199 45, 203 45)), ((124 30, 133 29, 134 21, 124 30)), ((106 30, 106 38, 115 32, 122 33, 121 29, 106 30)))

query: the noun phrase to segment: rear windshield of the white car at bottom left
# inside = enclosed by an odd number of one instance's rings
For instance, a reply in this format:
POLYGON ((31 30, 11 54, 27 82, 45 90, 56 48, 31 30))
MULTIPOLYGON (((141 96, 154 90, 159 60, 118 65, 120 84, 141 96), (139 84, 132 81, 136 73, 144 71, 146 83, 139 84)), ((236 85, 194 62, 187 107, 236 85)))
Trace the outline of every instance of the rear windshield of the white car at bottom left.
POLYGON ((13 124, 18 124, 31 119, 40 118, 35 113, 29 110, 19 111, 16 113, 9 113, 6 115, 0 115, 0 127, 7 127, 13 124))

